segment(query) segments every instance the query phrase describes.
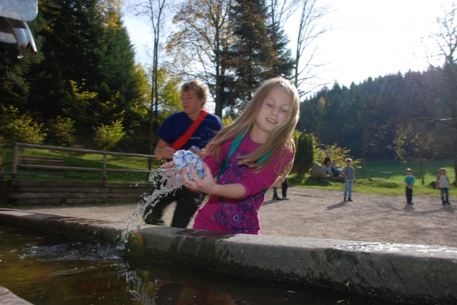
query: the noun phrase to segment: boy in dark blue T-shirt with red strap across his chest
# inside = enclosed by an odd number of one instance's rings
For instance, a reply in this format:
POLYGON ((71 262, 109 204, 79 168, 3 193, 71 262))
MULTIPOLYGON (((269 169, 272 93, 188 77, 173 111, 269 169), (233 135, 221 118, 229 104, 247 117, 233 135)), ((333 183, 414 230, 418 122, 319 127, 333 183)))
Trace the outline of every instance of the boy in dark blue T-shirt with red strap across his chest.
MULTIPOLYGON (((200 158, 205 157, 205 151, 202 148, 223 127, 219 116, 203 109, 207 96, 208 90, 201 81, 193 80, 184 83, 181 87, 181 104, 184 111, 169 116, 157 130, 160 140, 154 149, 154 155, 158 159, 165 158, 170 161, 178 149, 192 149, 200 158)), ((172 226, 186 228, 204 197, 203 193, 195 193, 182 187, 160 198, 154 207, 149 205, 143 217, 146 224, 163 225, 163 210, 176 201, 172 226)))

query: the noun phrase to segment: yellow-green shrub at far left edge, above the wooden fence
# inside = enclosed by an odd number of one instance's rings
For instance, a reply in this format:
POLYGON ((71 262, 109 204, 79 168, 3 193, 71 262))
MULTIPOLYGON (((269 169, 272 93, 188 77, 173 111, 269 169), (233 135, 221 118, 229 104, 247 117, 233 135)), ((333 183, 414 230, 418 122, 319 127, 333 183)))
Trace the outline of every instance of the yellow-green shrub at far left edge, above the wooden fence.
POLYGON ((33 121, 25 113, 20 115, 19 109, 13 106, 1 106, 0 128, 6 140, 30 144, 41 144, 46 137, 43 123, 33 121))

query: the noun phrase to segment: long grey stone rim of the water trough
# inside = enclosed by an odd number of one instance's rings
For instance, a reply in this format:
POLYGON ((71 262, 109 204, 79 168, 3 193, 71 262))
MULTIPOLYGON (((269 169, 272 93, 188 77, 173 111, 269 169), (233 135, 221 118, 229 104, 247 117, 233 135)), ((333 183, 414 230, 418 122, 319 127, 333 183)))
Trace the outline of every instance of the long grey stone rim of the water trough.
MULTIPOLYGON (((0 209, 0 223, 115 243, 120 222, 0 209)), ((250 236, 144 225, 128 247, 150 259, 389 299, 457 304, 457 248, 250 236)))

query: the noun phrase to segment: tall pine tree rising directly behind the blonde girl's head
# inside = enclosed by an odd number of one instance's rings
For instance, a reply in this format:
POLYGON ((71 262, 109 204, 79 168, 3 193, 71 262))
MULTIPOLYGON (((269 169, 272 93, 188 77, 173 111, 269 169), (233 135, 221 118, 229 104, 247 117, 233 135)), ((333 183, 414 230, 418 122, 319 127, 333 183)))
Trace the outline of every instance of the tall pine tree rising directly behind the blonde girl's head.
POLYGON ((277 25, 269 25, 264 0, 236 0, 232 9, 235 43, 231 48, 231 68, 236 79, 233 97, 244 102, 263 81, 288 77, 294 67, 287 37, 277 25))

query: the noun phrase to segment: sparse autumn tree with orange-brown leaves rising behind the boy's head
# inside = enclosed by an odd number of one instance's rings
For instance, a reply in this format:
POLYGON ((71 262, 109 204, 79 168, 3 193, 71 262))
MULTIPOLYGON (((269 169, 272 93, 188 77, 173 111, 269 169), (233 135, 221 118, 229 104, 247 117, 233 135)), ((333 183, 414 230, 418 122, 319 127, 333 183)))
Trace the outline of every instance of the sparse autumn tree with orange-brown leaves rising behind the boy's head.
POLYGON ((231 72, 228 49, 233 43, 233 0, 188 0, 182 2, 174 16, 177 27, 167 43, 174 65, 187 78, 205 81, 210 88, 215 114, 232 103, 229 95, 231 72))

